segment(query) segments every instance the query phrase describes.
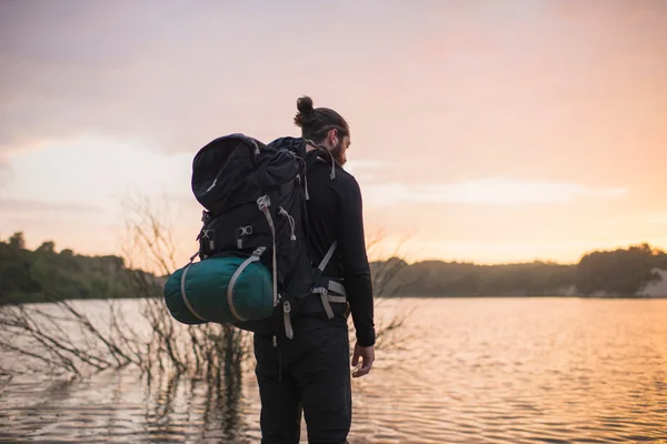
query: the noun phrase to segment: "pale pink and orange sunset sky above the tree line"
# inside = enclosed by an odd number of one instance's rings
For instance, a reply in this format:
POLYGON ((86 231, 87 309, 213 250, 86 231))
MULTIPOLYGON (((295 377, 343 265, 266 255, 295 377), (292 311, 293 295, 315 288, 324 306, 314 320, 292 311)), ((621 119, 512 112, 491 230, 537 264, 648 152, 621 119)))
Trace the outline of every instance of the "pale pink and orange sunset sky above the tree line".
POLYGON ((372 256, 667 249, 667 2, 0 0, 0 239, 115 254, 123 203, 180 262, 210 140, 350 123, 372 256), (167 205, 167 206, 165 206, 167 205))

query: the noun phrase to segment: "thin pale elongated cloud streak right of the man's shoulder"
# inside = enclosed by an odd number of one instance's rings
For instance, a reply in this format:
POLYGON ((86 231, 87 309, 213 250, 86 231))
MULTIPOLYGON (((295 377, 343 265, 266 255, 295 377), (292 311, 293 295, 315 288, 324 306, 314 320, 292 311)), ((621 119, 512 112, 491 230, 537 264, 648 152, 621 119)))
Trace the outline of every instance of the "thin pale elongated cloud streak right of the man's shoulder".
POLYGON ((376 183, 364 186, 365 201, 374 206, 402 203, 531 205, 567 203, 581 199, 606 200, 628 193, 626 188, 590 188, 576 183, 529 182, 488 178, 451 184, 376 183))

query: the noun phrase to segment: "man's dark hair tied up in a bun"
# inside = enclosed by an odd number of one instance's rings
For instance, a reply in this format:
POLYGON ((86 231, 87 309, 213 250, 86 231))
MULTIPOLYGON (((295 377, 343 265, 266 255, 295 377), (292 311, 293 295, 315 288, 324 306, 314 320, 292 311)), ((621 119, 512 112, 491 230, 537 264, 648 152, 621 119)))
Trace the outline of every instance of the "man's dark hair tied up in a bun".
POLYGON ((316 143, 321 142, 327 133, 338 130, 340 137, 349 135, 350 128, 342 115, 329 108, 312 108, 312 99, 308 95, 297 100, 295 124, 301 128, 301 137, 316 143))

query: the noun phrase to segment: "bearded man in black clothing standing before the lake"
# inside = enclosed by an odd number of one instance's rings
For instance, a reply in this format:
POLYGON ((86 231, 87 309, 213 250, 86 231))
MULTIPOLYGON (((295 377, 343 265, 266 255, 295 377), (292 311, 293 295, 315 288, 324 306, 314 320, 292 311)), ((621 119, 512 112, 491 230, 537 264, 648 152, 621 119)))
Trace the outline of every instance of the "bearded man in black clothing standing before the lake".
POLYGON ((352 366, 361 361, 352 376, 368 374, 375 360, 374 297, 361 192, 355 178, 342 170, 350 145, 345 119, 331 109, 313 109, 308 97, 300 98, 297 108, 295 123, 301 128, 302 138, 276 143, 297 143, 307 152, 310 255, 315 265, 320 264, 337 242, 322 276, 342 284, 347 302, 327 307, 323 297, 309 295, 292 317, 293 339, 255 335, 262 443, 297 444, 301 412, 309 443, 346 443, 351 425, 348 311, 357 336, 352 366))

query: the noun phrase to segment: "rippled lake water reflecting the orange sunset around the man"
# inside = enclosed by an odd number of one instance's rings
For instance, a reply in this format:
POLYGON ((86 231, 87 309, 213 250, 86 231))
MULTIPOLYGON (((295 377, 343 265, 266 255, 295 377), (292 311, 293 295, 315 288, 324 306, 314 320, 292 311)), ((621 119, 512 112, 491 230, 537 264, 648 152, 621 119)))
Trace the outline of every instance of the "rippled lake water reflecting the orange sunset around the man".
MULTIPOLYGON (((667 300, 407 300, 378 311, 407 307, 402 350, 378 351, 355 380, 352 443, 667 443, 667 300)), ((0 441, 259 442, 251 367, 240 387, 149 387, 132 369, 0 387, 0 441)))

